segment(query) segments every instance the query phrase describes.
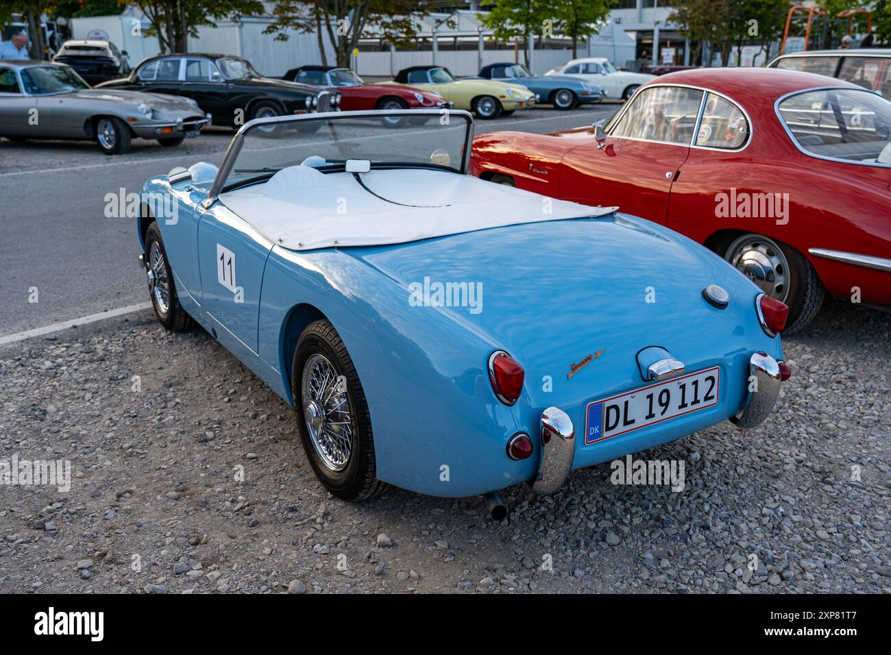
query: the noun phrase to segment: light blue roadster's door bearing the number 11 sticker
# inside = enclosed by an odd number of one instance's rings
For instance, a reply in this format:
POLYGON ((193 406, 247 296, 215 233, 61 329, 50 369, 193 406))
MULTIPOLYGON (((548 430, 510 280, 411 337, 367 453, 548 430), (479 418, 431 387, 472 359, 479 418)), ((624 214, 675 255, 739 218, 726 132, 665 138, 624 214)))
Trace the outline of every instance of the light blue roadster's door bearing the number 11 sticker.
POLYGON ((203 307, 217 324, 217 338, 239 356, 257 356, 260 289, 272 248, 273 242, 223 201, 217 201, 200 218, 198 260, 203 307))

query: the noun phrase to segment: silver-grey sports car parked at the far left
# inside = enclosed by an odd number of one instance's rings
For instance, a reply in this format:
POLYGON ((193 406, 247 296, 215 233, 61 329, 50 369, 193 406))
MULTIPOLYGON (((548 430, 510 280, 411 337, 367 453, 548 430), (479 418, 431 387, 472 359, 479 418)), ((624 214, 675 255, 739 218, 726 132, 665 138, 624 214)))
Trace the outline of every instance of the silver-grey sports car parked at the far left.
POLYGON ((179 145, 209 118, 189 98, 90 88, 65 64, 0 61, 0 136, 12 141, 89 140, 116 155, 135 137, 179 145))

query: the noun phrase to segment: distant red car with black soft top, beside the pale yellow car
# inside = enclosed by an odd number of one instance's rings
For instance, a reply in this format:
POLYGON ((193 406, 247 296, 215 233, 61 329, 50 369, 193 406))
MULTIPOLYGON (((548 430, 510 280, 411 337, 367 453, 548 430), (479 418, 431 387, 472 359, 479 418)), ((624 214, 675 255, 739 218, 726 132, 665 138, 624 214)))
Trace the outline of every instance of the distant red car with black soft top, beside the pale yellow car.
POLYGON ((312 86, 335 86, 340 96, 340 111, 435 109, 447 107, 442 95, 414 86, 365 84, 349 69, 336 66, 301 66, 284 74, 290 82, 312 86))

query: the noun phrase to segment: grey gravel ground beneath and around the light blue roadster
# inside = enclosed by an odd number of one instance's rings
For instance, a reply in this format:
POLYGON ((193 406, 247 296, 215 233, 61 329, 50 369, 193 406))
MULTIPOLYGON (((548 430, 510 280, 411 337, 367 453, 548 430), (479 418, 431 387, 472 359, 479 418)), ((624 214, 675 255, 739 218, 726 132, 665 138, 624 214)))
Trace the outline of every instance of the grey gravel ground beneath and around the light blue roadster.
POLYGON ((503 523, 478 497, 332 498, 290 407, 150 311, 2 348, 0 459, 73 479, 4 488, 0 591, 891 593, 888 316, 830 303, 786 348, 757 430, 638 455, 683 460, 683 492, 601 464, 556 495, 511 487, 503 523))

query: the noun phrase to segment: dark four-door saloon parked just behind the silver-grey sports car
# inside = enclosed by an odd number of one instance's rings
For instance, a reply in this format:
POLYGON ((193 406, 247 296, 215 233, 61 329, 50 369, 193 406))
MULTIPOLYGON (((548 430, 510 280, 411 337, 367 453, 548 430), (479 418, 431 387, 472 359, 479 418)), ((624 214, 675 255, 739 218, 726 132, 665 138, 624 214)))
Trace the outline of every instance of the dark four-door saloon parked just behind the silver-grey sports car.
POLYGON ((317 86, 264 78, 249 61, 227 54, 164 54, 141 61, 127 78, 97 88, 183 95, 198 102, 214 125, 241 127, 251 119, 336 111, 340 94, 317 86))

